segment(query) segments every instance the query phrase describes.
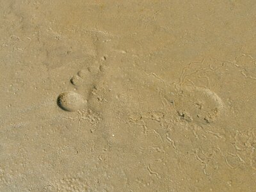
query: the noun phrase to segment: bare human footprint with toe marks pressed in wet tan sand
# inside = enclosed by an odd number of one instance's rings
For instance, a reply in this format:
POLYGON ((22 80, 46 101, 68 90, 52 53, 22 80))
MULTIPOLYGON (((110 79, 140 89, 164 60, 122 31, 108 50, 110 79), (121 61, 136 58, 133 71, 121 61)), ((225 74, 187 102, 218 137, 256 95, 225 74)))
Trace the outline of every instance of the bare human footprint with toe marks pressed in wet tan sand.
POLYGON ((102 79, 102 75, 102 65, 98 64, 79 70, 70 79, 70 83, 77 91, 61 93, 58 97, 58 106, 65 111, 81 109, 97 111, 100 102, 106 101, 104 98, 107 97, 106 104, 110 111, 112 108, 117 109, 119 105, 120 109, 127 111, 127 114, 160 111, 172 114, 172 118, 176 120, 198 125, 215 122, 225 108, 223 100, 208 88, 168 85, 152 76, 135 71, 131 71, 127 76, 120 77, 116 74, 112 76, 113 79, 105 78, 113 86, 111 86, 111 96, 105 94, 103 97, 99 94, 100 89, 104 90, 104 84, 100 84, 99 80, 102 79), (129 83, 127 79, 130 79, 129 83), (115 95, 121 96, 115 97, 115 95), (163 106, 164 103, 168 105, 163 106))

